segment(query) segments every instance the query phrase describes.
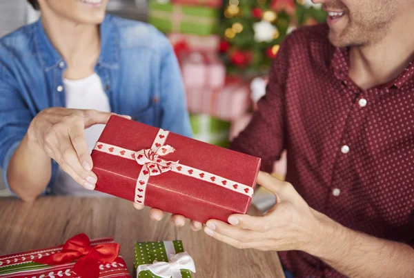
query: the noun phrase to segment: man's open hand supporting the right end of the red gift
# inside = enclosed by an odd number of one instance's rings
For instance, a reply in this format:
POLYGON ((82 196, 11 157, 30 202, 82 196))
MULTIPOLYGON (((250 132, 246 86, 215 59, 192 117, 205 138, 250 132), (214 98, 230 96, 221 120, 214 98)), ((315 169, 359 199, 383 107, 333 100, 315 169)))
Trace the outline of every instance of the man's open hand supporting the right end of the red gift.
POLYGON ((236 248, 309 250, 314 248, 320 222, 290 183, 260 172, 257 183, 276 195, 277 204, 262 217, 231 215, 226 224, 209 220, 204 231, 236 248))

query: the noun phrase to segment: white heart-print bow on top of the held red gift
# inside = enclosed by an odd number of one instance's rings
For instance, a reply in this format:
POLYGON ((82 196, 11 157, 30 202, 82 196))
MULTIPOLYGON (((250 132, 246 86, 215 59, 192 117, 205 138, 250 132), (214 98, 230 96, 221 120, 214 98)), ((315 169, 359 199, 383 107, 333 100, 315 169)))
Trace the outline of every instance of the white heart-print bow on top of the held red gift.
POLYGON ((172 152, 175 152, 175 149, 169 145, 164 145, 159 147, 155 150, 146 149, 146 150, 139 150, 135 153, 135 159, 142 165, 142 172, 144 175, 150 176, 157 176, 161 175, 163 172, 168 172, 172 169, 173 165, 177 165, 179 161, 166 161, 159 157, 164 155, 168 155, 172 152))

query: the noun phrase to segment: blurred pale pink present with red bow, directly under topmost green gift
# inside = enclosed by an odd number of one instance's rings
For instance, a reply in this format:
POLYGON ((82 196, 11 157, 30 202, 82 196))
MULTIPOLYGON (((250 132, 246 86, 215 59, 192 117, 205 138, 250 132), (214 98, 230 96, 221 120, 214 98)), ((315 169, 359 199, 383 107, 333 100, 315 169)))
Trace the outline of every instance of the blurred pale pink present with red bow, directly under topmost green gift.
POLYGON ((212 34, 210 36, 197 36, 195 34, 168 34, 177 57, 187 52, 216 52, 219 50, 220 37, 212 34))

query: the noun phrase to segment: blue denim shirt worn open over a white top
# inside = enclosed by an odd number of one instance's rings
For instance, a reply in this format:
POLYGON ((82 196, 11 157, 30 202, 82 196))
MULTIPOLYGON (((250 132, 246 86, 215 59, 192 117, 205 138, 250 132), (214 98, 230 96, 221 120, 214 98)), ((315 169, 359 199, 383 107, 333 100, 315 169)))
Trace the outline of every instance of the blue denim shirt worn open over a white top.
MULTIPOLYGON (((95 72, 112 112, 191 137, 184 86, 172 47, 154 27, 106 15, 95 72)), ((65 107, 66 62, 41 21, 0 39, 0 166, 8 187, 10 158, 41 110, 65 107)), ((52 161, 52 186, 58 170, 52 161)))

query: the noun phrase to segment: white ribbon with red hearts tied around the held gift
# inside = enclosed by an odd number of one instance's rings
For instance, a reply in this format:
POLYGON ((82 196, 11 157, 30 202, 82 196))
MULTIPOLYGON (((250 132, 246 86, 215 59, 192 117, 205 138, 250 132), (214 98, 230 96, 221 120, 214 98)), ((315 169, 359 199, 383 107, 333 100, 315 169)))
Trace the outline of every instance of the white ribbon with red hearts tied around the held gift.
POLYGON ((179 161, 167 161, 165 159, 161 159, 164 155, 175 152, 175 149, 172 148, 172 146, 165 145, 169 134, 169 131, 160 129, 152 142, 151 148, 149 149, 134 151, 113 146, 108 143, 97 142, 94 150, 105 152, 109 155, 115 155, 117 157, 132 159, 137 161, 137 163, 142 166, 135 186, 135 203, 145 205, 146 187, 150 177, 161 175, 168 171, 200 179, 208 183, 214 183, 217 186, 238 192, 250 198, 253 197, 253 188, 250 186, 214 175, 210 172, 180 164, 179 161))

